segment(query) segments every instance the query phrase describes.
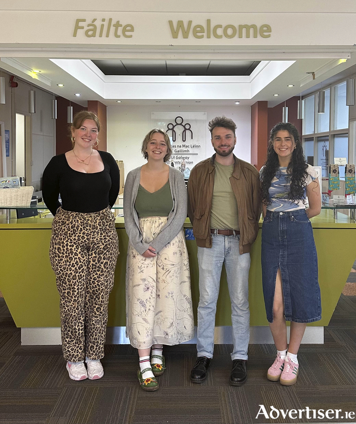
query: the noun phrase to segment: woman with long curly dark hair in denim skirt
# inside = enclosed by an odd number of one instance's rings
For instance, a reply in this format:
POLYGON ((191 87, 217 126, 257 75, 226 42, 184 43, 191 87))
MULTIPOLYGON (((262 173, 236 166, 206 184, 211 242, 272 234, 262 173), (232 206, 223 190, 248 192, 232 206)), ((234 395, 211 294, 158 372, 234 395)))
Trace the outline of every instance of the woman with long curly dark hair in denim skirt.
POLYGON ((271 130, 260 178, 262 285, 277 348, 267 378, 291 385, 298 376, 297 354, 306 325, 321 319, 318 263, 309 221, 320 213, 319 181, 304 159, 298 130, 292 124, 279 123, 271 130), (286 321, 291 321, 288 352, 286 321))

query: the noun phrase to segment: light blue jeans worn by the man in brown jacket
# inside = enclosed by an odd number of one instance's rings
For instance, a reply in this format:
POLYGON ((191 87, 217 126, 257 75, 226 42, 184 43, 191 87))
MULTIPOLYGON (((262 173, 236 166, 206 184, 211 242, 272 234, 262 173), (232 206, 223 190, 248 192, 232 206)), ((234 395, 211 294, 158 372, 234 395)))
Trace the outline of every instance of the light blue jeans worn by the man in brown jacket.
POLYGON ((239 253, 239 235, 214 235, 211 249, 198 247, 199 306, 198 357, 213 357, 216 303, 222 265, 225 262, 231 300, 233 352, 231 359, 247 359, 250 340, 249 269, 250 254, 239 253))

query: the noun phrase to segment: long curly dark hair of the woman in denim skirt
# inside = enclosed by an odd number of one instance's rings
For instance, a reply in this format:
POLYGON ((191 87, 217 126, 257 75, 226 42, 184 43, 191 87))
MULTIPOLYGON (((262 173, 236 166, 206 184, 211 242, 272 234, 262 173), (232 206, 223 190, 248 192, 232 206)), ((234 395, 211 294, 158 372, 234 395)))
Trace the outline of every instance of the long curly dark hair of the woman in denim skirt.
POLYGON ((261 198, 264 204, 271 204, 269 189, 271 187, 272 179, 276 175, 277 169, 280 166, 278 155, 273 148, 273 140, 276 138, 278 131, 283 130, 288 131, 289 135, 293 137, 295 143, 295 148, 287 167, 287 173, 290 174, 290 191, 288 193, 288 199, 292 201, 299 201, 303 199, 303 203, 305 204, 306 200, 304 199, 304 190, 307 186, 308 164, 304 158, 303 147, 298 130, 293 124, 284 122, 276 124, 270 133, 267 159, 261 173, 261 198))

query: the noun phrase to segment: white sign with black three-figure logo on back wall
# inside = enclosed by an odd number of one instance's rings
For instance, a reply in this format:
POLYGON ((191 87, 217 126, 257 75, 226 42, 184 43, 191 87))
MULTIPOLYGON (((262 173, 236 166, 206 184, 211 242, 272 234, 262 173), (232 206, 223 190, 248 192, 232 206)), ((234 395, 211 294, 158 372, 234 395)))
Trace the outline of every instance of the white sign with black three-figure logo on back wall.
POLYGON ((169 135, 170 165, 188 177, 193 166, 205 159, 206 112, 158 111, 151 112, 151 119, 154 128, 161 128, 169 135))

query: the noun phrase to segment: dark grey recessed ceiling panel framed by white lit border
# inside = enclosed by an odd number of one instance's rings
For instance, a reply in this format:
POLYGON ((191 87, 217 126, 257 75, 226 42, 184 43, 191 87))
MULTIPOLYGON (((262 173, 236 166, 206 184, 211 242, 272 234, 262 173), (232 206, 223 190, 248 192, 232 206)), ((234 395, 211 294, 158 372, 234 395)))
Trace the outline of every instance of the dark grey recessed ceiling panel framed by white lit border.
POLYGON ((258 60, 93 60, 105 75, 250 75, 258 60))

